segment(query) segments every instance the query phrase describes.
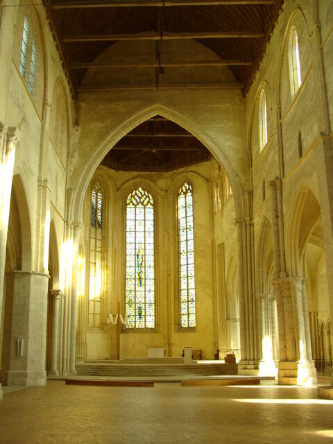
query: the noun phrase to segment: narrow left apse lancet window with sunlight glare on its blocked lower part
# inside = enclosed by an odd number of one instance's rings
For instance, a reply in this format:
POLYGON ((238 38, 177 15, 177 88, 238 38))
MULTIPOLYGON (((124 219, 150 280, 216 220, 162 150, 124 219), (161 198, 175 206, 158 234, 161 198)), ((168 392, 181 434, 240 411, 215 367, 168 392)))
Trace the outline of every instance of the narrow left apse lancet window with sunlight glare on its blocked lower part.
POLYGON ((102 224, 104 194, 98 183, 92 187, 89 252, 89 327, 101 326, 103 290, 102 224))

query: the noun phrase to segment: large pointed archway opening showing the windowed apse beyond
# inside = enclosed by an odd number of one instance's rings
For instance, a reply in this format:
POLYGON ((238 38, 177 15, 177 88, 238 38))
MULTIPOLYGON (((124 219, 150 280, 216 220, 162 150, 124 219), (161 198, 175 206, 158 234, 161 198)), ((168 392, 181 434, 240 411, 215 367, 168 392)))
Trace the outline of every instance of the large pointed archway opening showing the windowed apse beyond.
POLYGON ((225 265, 237 242, 234 219, 227 174, 185 128, 157 114, 119 139, 83 201, 80 361, 146 357, 149 348, 181 357, 185 346, 203 359, 239 357, 237 263, 232 277, 225 265))

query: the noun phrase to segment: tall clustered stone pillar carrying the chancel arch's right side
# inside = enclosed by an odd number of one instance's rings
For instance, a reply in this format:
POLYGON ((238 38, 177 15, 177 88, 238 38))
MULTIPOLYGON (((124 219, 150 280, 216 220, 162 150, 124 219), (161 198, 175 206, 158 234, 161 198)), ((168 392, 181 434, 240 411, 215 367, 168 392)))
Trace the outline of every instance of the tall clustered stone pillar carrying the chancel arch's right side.
POLYGON ((237 219, 239 246, 239 321, 241 330, 241 361, 239 373, 257 375, 259 373, 259 350, 257 332, 257 298, 254 289, 254 250, 252 195, 244 196, 246 218, 237 219))

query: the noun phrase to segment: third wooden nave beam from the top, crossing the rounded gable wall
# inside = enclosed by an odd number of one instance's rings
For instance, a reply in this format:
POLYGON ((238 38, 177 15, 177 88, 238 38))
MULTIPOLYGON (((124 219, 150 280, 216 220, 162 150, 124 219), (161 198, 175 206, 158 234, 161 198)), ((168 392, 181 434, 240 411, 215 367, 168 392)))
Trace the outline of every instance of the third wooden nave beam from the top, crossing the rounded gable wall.
POLYGON ((226 66, 248 66, 253 62, 246 60, 183 60, 179 62, 113 62, 95 63, 82 62, 73 63, 71 69, 114 69, 114 68, 164 68, 170 67, 226 67, 226 66))

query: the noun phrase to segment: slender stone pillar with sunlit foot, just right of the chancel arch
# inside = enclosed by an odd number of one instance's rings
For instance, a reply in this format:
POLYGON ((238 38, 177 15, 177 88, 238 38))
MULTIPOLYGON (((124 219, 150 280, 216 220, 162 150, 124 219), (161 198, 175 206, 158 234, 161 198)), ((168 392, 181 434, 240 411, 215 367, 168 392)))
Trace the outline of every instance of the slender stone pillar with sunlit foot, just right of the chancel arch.
POLYGON ((262 339, 262 359, 259 363, 259 375, 275 376, 278 369, 275 366, 273 352, 273 328, 271 318, 271 297, 266 293, 256 295, 260 304, 260 330, 262 339))

